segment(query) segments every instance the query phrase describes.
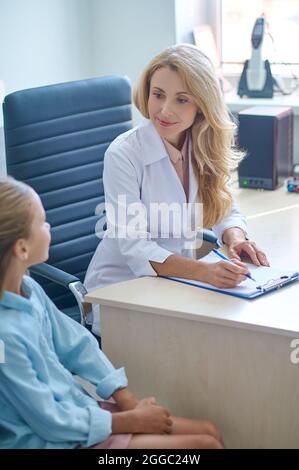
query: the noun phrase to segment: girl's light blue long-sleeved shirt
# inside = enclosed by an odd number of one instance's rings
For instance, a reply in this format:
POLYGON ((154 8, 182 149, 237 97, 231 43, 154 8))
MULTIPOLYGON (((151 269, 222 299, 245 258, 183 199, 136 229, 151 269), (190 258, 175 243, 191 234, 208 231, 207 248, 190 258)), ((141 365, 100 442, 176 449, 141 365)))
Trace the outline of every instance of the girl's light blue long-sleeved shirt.
POLYGON ((0 299, 0 448, 91 446, 111 434, 111 413, 101 409, 72 374, 109 398, 127 386, 93 336, 61 313, 42 288, 24 276, 25 297, 0 299))

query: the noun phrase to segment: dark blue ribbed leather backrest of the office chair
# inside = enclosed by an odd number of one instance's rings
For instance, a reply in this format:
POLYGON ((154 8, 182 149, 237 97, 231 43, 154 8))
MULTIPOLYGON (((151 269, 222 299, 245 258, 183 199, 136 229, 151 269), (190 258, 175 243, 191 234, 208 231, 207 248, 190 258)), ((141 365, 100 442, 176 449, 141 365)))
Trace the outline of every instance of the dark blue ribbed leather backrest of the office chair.
MULTIPOLYGON (((132 127, 131 87, 108 76, 17 91, 3 103, 7 173, 40 195, 52 226, 49 263, 83 281, 99 243, 103 158, 132 127)), ((38 279, 59 308, 74 298, 38 279)))

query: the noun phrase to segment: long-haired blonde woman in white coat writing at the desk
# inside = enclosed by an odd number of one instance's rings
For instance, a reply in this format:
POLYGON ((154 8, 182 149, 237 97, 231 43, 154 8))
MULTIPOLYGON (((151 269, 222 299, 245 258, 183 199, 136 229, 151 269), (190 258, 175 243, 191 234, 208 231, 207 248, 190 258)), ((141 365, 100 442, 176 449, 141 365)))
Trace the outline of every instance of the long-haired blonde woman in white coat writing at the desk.
MULTIPOLYGON (((108 231, 90 263, 87 289, 148 275, 230 288, 248 273, 242 254, 267 266, 265 254, 247 237, 245 218, 228 187, 242 154, 232 146, 235 126, 210 60, 192 45, 164 50, 143 72, 134 102, 146 120, 106 152, 108 231), (181 236, 174 236, 173 227, 166 233, 157 222, 161 204, 175 205, 178 212, 198 202, 203 226, 213 228, 234 264, 192 259, 183 223, 176 230, 181 236)), ((96 315, 93 331, 99 334, 96 315)))

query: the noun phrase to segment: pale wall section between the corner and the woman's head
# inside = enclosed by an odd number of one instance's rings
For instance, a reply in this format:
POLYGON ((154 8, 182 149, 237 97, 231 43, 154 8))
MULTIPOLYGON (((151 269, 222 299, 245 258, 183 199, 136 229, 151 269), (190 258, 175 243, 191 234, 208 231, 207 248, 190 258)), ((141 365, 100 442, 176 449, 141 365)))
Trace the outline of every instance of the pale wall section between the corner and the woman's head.
POLYGON ((92 2, 93 74, 127 75, 134 86, 149 60, 176 41, 175 0, 92 2))

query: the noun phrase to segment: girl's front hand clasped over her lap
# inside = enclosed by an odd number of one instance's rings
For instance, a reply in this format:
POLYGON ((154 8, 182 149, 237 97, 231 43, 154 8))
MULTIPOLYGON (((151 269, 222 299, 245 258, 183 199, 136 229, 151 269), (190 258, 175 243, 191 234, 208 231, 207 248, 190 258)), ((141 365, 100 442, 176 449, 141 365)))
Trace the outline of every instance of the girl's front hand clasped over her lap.
POLYGON ((163 406, 156 405, 154 398, 144 398, 140 400, 133 412, 137 418, 137 433, 171 433, 172 420, 170 413, 163 406))

